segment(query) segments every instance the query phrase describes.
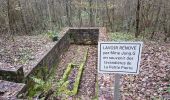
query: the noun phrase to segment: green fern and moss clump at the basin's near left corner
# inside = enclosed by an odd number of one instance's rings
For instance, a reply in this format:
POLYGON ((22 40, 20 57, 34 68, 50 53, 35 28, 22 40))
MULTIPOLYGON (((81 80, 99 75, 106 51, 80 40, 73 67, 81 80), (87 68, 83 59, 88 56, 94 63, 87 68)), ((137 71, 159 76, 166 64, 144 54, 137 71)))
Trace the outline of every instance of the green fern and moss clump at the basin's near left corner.
POLYGON ((29 77, 29 87, 26 95, 30 100, 33 100, 33 98, 44 100, 52 92, 55 67, 49 70, 46 66, 37 69, 35 73, 35 75, 29 77))

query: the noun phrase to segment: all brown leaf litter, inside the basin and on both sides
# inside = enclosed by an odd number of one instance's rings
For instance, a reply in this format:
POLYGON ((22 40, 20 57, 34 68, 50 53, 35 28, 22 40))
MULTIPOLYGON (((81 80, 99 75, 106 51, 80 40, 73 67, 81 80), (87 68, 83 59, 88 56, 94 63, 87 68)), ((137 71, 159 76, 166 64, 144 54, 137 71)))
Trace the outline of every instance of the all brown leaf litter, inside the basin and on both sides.
MULTIPOLYGON (((24 65, 25 73, 30 70, 31 64, 34 64, 54 45, 54 42, 44 36, 18 36, 14 37, 14 40, 15 43, 0 38, 0 66, 13 68, 24 65)), ((70 96, 69 99, 113 99, 114 75, 97 74, 97 46, 71 45, 62 55, 62 60, 56 69, 56 81, 62 77, 68 63, 79 63, 82 60, 86 49, 89 49, 87 63, 78 95, 70 96), (96 93, 99 93, 98 96, 96 93)), ((170 96, 168 88, 170 88, 170 44, 147 40, 143 45, 139 74, 121 77, 121 98, 122 100, 161 100, 162 97, 170 96)))

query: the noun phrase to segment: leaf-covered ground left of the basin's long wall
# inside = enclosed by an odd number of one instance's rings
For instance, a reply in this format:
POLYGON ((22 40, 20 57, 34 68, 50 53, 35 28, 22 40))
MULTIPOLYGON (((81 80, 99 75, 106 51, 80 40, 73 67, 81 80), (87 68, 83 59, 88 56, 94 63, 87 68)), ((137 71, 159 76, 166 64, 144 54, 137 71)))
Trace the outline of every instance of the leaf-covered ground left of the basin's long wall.
POLYGON ((54 45, 48 36, 14 36, 13 39, 0 38, 0 67, 15 69, 23 66, 28 73, 43 54, 54 45))

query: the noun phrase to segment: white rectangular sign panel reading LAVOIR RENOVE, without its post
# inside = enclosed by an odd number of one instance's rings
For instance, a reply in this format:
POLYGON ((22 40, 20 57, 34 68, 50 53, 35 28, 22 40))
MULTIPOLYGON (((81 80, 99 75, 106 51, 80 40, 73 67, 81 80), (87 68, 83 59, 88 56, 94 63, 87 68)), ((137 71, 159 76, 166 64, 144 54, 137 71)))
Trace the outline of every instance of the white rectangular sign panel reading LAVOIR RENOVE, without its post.
POLYGON ((98 72, 138 74, 143 42, 99 42, 98 72))

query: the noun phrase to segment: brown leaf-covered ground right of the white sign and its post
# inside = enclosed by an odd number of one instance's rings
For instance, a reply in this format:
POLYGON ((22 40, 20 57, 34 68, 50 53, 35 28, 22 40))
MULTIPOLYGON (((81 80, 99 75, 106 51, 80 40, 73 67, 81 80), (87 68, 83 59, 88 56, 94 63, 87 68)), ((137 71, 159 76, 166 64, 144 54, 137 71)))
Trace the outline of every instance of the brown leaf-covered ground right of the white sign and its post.
MULTIPOLYGON (((145 42, 138 75, 123 75, 123 100, 151 100, 170 96, 170 44, 145 42)), ((169 97, 170 98, 170 97, 169 97)))

